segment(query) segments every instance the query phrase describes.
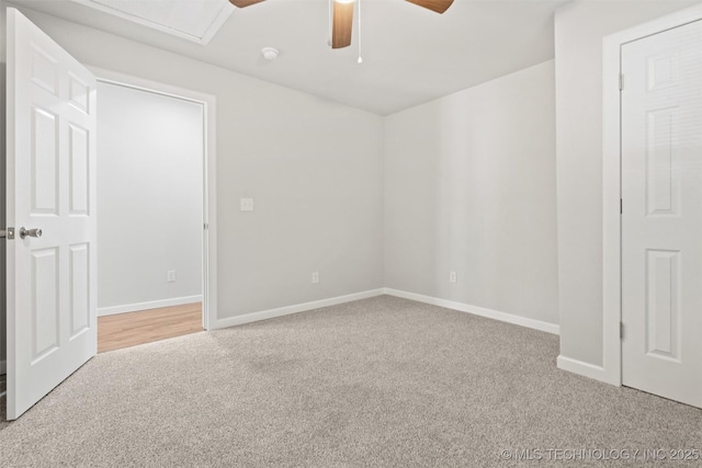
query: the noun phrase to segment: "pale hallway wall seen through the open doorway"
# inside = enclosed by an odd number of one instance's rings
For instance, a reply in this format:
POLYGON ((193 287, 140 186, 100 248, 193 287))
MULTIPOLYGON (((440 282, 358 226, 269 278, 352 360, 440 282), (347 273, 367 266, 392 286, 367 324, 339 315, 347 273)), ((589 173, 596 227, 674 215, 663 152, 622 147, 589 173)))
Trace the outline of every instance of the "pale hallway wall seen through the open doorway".
POLYGON ((202 294, 203 106, 109 83, 98 95, 99 312, 193 301, 202 294), (171 270, 177 279, 167 283, 171 270))

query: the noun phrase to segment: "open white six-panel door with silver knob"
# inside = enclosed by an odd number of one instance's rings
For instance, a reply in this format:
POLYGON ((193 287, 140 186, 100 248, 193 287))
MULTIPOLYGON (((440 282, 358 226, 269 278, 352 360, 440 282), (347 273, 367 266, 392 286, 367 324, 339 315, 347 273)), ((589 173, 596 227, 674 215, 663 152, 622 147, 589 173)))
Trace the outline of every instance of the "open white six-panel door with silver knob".
POLYGON ((97 119, 95 78, 82 65, 11 8, 7 31, 14 235, 7 242, 7 401, 14 420, 97 351, 97 119))

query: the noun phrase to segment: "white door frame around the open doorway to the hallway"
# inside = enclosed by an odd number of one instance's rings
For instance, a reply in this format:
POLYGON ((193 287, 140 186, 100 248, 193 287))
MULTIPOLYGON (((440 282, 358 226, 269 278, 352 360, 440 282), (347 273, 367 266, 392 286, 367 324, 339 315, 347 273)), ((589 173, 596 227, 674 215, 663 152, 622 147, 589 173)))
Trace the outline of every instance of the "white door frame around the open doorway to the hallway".
MULTIPOLYGON (((217 323, 217 139, 216 98, 171 84, 160 83, 91 65, 86 67, 99 83, 115 84, 144 92, 193 102, 203 106, 203 236, 202 236, 202 327, 212 330, 217 323)), ((98 95, 100 103, 100 95, 98 95)), ((98 104, 100 106, 100 104, 98 104)), ((98 107, 100 112, 100 107, 98 107)), ((100 128, 98 128, 100 132, 100 128)), ((100 180, 98 180, 100 190, 100 180)), ((100 259, 98 259, 100 262, 100 259)))

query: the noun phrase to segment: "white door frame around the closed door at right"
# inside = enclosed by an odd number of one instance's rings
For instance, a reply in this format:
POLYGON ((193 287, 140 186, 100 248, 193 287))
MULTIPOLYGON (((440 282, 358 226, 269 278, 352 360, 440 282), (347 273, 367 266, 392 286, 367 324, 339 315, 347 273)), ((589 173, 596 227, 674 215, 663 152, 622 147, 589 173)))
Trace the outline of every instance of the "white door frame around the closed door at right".
MULTIPOLYGON (((702 20, 702 4, 605 36, 602 41, 602 366, 590 377, 622 385, 622 46, 702 20)), ((624 78, 624 87, 626 79, 624 78)))

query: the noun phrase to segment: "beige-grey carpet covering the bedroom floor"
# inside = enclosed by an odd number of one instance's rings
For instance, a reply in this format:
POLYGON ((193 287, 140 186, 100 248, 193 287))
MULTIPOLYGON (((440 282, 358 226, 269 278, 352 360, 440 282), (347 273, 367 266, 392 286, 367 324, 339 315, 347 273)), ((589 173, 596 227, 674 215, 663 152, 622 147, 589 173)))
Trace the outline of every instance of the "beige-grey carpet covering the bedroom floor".
POLYGON ((0 425, 0 465, 492 467, 532 449, 573 467, 547 450, 702 449, 702 411, 558 370, 557 354, 557 336, 383 296, 101 354, 0 425))

